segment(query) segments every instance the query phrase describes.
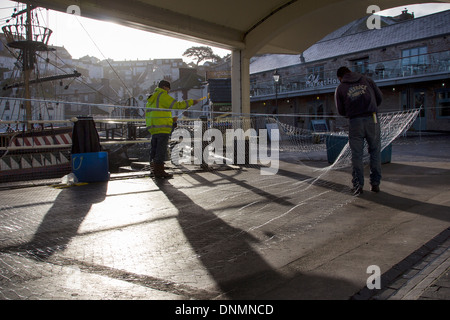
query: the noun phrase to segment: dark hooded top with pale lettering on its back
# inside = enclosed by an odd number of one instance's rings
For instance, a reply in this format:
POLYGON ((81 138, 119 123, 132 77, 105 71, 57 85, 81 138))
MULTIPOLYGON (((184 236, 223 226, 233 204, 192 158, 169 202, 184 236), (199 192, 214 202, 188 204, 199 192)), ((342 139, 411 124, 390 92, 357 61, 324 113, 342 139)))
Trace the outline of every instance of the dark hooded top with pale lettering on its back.
POLYGON ((339 114, 351 119, 377 113, 383 95, 372 79, 350 72, 342 78, 334 98, 339 114))

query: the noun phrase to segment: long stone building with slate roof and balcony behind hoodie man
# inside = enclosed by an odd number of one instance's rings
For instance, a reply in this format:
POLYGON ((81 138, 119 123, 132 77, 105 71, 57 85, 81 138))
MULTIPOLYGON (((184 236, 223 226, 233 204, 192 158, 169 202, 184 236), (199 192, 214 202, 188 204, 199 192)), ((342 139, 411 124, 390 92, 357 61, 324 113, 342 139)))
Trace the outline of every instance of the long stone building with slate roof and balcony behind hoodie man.
POLYGON ((299 55, 253 58, 252 112, 298 114, 287 121, 306 129, 311 120, 326 119, 339 129, 346 121, 336 117, 336 70, 348 66, 375 80, 384 95, 382 112, 422 107, 412 130, 449 131, 450 10, 420 18, 405 10, 380 19, 380 29, 368 29, 364 17, 299 55))

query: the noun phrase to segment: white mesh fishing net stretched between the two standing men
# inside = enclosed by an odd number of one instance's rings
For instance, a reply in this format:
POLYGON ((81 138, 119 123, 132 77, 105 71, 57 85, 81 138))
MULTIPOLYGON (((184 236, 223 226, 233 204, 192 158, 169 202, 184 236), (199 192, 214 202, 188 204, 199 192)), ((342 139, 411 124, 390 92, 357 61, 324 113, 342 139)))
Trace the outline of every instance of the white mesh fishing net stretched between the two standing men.
MULTIPOLYGON (((419 112, 420 109, 411 109, 379 114, 382 150, 410 128, 419 112)), ((312 126, 311 129, 288 122, 292 122, 292 119, 287 115, 254 115, 212 122, 179 120, 180 131, 172 135, 172 148, 175 146, 172 150, 175 154, 172 153, 171 159, 175 165, 203 163, 251 166, 264 162, 267 164, 269 159, 301 161, 326 158, 330 163, 327 169, 350 166, 347 131, 330 131, 327 125, 329 121, 326 120, 317 122, 322 127, 312 126), (192 155, 192 158, 186 154, 192 155), (180 161, 180 157, 184 161, 180 161)), ((367 162, 367 146, 364 150, 364 161, 367 162)))

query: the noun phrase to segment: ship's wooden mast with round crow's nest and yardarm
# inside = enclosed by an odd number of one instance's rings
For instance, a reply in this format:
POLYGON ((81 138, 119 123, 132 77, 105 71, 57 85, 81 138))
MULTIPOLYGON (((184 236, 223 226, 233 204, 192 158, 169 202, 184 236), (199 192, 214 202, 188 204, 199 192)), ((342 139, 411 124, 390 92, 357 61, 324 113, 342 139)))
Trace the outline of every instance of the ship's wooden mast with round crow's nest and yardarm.
POLYGON ((12 18, 17 18, 19 16, 25 15, 25 23, 17 22, 17 24, 7 25, 2 28, 3 33, 6 36, 8 46, 14 49, 19 49, 21 51, 21 55, 19 56, 19 58, 21 58, 24 81, 22 83, 5 86, 4 89, 20 86, 24 87, 27 129, 31 129, 29 121, 32 120, 30 84, 81 76, 80 73, 75 71, 73 74, 52 76, 40 79, 36 78, 36 80, 31 80, 31 74, 34 70, 36 62, 36 52, 52 50, 48 46, 48 40, 50 39, 52 30, 33 24, 32 10, 34 9, 36 9, 36 7, 34 7, 32 4, 27 3, 26 9, 16 12, 11 16, 12 18))

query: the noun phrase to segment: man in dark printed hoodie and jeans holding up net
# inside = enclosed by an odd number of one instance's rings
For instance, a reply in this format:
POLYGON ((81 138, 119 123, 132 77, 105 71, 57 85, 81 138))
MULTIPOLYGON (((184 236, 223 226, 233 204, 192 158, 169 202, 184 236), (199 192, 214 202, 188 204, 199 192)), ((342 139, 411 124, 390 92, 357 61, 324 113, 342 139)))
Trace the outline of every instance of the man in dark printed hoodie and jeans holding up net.
POLYGON ((353 193, 363 193, 364 186, 364 140, 370 155, 371 190, 380 191, 381 138, 378 106, 382 94, 375 82, 359 73, 340 67, 337 77, 341 84, 336 88, 335 103, 338 113, 349 119, 349 144, 352 151, 353 193))

